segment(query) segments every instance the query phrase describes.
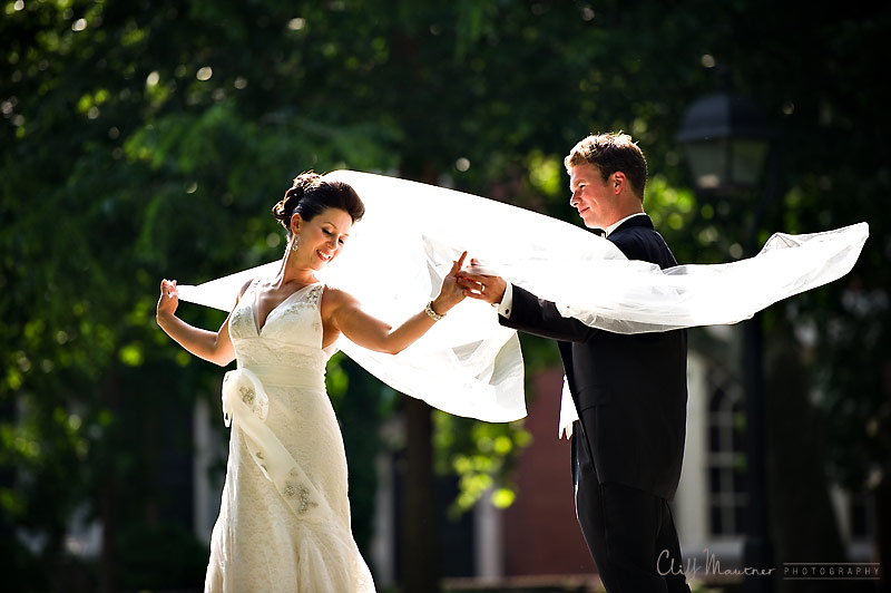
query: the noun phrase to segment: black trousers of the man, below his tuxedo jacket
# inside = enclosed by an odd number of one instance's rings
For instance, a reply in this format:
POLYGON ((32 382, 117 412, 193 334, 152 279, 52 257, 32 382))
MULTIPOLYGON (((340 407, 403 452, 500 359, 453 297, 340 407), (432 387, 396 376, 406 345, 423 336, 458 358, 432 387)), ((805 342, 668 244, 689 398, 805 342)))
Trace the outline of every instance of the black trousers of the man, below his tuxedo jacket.
POLYGON ((607 592, 689 593, 668 502, 600 484, 580 430, 572 436, 572 465, 576 516, 607 592))

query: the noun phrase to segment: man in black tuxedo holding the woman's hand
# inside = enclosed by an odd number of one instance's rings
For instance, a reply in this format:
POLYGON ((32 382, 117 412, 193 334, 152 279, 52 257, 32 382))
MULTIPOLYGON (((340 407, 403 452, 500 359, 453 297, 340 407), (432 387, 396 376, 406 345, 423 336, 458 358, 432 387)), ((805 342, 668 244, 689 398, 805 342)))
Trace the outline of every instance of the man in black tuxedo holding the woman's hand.
MULTIPOLYGON (((629 260, 677 265, 644 212, 647 164, 629 136, 588 136, 564 164, 569 203, 586 226, 629 260)), ((502 325, 558 340, 578 411, 576 515, 606 590, 689 592, 668 507, 684 456, 686 330, 609 333, 561 317, 555 303, 500 276, 471 268, 459 278, 468 295, 499 308, 502 325)))

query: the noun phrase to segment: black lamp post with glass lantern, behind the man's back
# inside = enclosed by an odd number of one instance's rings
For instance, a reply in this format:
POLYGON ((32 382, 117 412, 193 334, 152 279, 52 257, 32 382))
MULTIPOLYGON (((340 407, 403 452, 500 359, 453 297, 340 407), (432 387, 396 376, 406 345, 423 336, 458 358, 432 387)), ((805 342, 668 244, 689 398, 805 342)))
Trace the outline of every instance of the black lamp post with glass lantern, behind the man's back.
MULTIPOLYGON (((722 72, 719 72, 721 75, 722 72)), ((695 101, 686 115, 677 140, 684 146, 697 192, 731 197, 741 191, 763 187, 746 237, 746 255, 754 255, 757 231, 776 187, 776 166, 771 132, 761 110, 748 99, 722 90, 695 101), (766 179, 765 168, 767 169, 766 179)), ((764 401, 762 380, 761 315, 743 323, 743 383, 746 412, 746 480, 748 502, 744 566, 773 568, 764 479, 764 401)), ((746 576, 744 591, 770 592, 768 576, 746 576)))

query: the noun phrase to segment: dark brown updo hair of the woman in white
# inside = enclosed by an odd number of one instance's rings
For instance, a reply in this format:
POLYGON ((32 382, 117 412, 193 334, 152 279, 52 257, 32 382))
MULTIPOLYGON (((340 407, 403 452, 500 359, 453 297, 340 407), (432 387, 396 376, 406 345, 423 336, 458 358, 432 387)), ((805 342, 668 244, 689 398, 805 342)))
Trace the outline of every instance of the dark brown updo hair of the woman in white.
POLYGON ((272 215, 282 223, 291 236, 291 217, 294 213, 311 221, 327 208, 340 208, 358 222, 365 214, 365 205, 347 183, 323 179, 313 172, 301 173, 284 197, 272 207, 272 215))

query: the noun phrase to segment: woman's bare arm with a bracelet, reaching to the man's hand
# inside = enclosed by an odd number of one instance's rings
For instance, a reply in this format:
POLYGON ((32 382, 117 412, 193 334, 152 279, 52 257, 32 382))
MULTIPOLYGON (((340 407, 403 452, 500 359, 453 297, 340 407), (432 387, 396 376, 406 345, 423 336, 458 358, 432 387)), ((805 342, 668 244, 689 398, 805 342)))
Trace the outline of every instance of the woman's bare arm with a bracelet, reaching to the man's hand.
MULTIPOLYGON (((456 274, 461 270, 467 252, 452 263, 449 275, 442 280, 439 295, 431 303, 434 313, 444 315, 464 299, 463 289, 456 282, 456 274)), ((325 298, 329 299, 326 321, 353 343, 376 352, 396 354, 418 341, 435 323, 427 311, 420 311, 394 329, 364 312, 359 301, 343 291, 326 291, 325 298)))

